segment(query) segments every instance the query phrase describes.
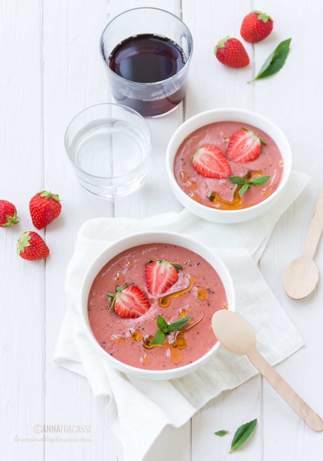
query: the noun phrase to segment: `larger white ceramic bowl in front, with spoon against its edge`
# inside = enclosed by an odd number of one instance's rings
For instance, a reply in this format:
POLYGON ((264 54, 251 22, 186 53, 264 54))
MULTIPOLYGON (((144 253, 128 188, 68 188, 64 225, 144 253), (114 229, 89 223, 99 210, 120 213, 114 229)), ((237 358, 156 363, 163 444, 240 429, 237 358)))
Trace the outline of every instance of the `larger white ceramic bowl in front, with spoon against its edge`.
POLYGON ((84 275, 80 293, 80 315, 82 324, 90 343, 93 345, 97 353, 111 366, 117 368, 117 370, 143 379, 159 380, 179 378, 180 376, 194 372, 202 365, 204 365, 208 360, 210 360, 210 358, 217 353, 220 347, 220 343, 216 343, 205 355, 203 355, 203 357, 188 365, 180 366, 171 370, 143 370, 141 368, 129 366, 121 361, 118 361, 110 354, 108 354, 104 349, 102 349, 100 344, 96 341, 88 323, 88 294, 95 276, 98 274, 100 269, 117 254, 128 248, 145 243, 171 243, 173 245, 180 245, 182 247, 188 248, 189 250, 199 254, 217 271, 222 280, 227 295, 229 309, 232 311, 235 310, 235 290, 229 271, 223 264, 222 260, 220 260, 217 255, 214 254, 209 248, 190 237, 183 236, 182 234, 176 234, 175 232, 139 232, 137 234, 132 234, 121 238, 116 242, 113 242, 111 245, 106 247, 90 264, 86 274, 84 275))

